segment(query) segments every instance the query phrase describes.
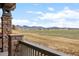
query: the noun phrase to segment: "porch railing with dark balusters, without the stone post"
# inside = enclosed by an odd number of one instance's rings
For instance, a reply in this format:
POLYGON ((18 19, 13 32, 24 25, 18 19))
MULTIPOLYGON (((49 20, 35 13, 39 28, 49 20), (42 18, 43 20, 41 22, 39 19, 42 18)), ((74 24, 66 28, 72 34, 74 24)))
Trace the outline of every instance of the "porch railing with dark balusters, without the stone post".
POLYGON ((62 52, 29 41, 19 41, 19 56, 67 56, 62 52))

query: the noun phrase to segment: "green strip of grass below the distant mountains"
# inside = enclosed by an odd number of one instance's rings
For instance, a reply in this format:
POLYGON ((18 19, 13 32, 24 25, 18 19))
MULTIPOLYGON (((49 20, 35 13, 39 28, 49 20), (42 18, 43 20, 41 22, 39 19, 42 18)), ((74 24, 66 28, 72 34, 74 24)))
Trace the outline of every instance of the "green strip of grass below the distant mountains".
POLYGON ((37 33, 46 36, 57 36, 65 37, 70 39, 79 39, 79 30, 65 30, 65 29, 54 29, 54 30, 25 30, 24 32, 37 33))

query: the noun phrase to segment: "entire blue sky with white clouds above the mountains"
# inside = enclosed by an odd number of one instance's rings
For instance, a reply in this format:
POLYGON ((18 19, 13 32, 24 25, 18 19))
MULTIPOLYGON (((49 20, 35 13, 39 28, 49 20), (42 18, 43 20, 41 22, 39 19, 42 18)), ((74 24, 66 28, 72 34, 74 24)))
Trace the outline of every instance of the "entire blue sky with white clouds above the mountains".
POLYGON ((12 11, 15 25, 79 28, 78 3, 17 3, 12 11))

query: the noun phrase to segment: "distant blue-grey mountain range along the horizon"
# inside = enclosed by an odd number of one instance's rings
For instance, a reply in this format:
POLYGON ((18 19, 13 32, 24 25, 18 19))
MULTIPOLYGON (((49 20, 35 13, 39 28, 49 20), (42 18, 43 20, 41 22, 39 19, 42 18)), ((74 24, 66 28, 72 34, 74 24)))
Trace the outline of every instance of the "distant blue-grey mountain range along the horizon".
POLYGON ((48 28, 45 28, 45 27, 42 27, 42 26, 20 26, 20 25, 16 25, 15 27, 17 28, 22 28, 22 29, 79 29, 79 28, 66 28, 66 27, 63 27, 63 28, 60 28, 60 27, 48 27, 48 28))

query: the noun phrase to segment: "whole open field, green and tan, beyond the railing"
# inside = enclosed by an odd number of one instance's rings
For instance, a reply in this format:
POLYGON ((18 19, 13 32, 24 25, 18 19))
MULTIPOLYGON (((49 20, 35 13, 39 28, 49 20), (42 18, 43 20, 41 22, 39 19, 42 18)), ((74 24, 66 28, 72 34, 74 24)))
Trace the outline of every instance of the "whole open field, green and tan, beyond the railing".
POLYGON ((79 30, 24 30, 22 34, 25 40, 79 55, 79 30))

